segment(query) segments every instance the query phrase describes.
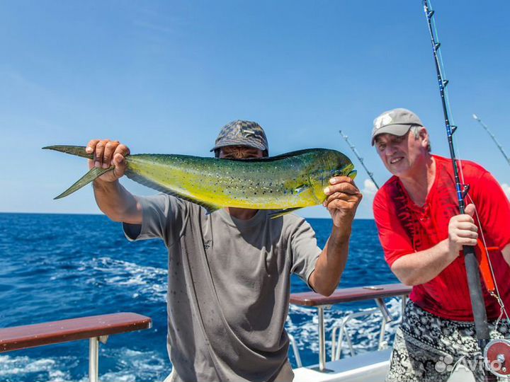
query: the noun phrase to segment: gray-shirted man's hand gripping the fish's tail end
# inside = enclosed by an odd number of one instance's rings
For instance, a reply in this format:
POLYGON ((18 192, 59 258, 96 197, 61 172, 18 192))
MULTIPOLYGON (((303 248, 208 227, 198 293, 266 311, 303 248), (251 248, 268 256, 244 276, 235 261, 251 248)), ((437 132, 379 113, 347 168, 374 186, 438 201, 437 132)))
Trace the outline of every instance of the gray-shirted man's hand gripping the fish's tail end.
POLYGON ((87 144, 85 151, 89 154, 94 153, 94 160, 89 160, 89 168, 102 167, 108 168, 115 166, 113 171, 108 171, 98 179, 104 182, 115 182, 124 175, 125 156, 130 154, 128 146, 120 144, 119 141, 110 139, 92 139, 87 144))

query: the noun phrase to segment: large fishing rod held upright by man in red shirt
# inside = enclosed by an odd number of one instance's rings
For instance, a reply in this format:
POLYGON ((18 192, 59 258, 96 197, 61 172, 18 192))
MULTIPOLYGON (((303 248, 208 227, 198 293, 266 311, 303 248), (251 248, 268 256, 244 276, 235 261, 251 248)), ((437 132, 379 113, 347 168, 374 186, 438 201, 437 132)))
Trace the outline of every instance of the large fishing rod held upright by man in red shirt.
MULTIPOLYGON (((453 163, 453 173, 455 175, 455 189, 457 190, 458 204, 460 214, 465 213, 465 202, 464 198, 469 191, 469 185, 463 185, 460 183, 459 169, 457 158, 455 158, 455 149, 453 147, 453 133, 457 130, 457 126, 450 125, 450 117, 448 113, 448 106, 445 94, 445 88, 448 85, 448 80, 443 79, 443 67, 441 65, 440 58, 438 57, 439 47, 441 43, 436 38, 436 32, 432 26, 432 17, 434 11, 431 9, 429 0, 424 0, 424 11, 429 25, 429 33, 431 35, 431 42, 433 48, 433 57, 436 64, 437 79, 439 85, 439 92, 441 93, 441 103, 443 104, 443 114, 446 125, 446 135, 448 137, 448 146, 450 146, 450 157, 453 163)), ((482 284, 480 282, 480 271, 478 268, 478 261, 475 256, 475 248, 465 245, 464 248, 464 260, 467 272, 467 284, 469 286, 471 305, 473 311, 473 317, 475 318, 475 330, 477 336, 478 346, 480 352, 484 354, 485 347, 490 341, 489 326, 487 323, 487 312, 485 311, 485 301, 482 294, 482 284)), ((485 365, 485 362, 484 362, 485 365)), ((497 381, 497 377, 491 374, 487 367, 485 367, 485 381, 497 381)))

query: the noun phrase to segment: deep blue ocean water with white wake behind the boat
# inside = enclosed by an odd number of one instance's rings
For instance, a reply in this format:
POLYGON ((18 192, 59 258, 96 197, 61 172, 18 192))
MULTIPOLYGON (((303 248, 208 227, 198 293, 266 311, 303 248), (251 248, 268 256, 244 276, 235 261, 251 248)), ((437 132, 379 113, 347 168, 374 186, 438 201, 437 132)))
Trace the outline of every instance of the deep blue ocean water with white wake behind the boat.
MULTIPOLYGON (((322 247, 331 220, 308 219, 322 247)), ((65 318, 131 311, 152 318, 150 330, 113 335, 101 345, 101 381, 162 381, 171 371, 166 354, 166 248, 162 241, 129 243, 106 216, 0 214, 0 328, 65 318)), ((397 282, 387 267, 373 220, 356 220, 340 287, 397 282)), ((307 291, 297 277, 292 292, 307 291)), ((327 311, 326 320, 370 308, 351 303, 327 311)), ((390 301, 398 314, 399 303, 390 301)), ((376 346, 379 318, 354 321, 357 349, 376 346)), ((390 325, 388 336, 395 325, 390 325)), ((317 364, 317 316, 290 306, 287 329, 305 365, 317 364)), ((330 337, 331 329, 327 330, 330 337)), ((329 343, 329 342, 328 342, 329 343)), ((88 341, 0 354, 0 381, 86 381, 88 341)), ((295 366, 292 352, 290 361, 295 366)))

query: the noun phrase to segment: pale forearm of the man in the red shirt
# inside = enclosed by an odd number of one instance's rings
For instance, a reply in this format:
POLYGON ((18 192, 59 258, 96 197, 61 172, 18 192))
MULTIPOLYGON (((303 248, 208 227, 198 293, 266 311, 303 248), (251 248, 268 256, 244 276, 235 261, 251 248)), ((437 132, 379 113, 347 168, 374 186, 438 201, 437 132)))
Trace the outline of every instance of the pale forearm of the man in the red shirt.
POLYGON ((406 285, 425 284, 443 272, 457 257, 458 254, 450 253, 446 239, 428 250, 400 257, 391 270, 406 285))

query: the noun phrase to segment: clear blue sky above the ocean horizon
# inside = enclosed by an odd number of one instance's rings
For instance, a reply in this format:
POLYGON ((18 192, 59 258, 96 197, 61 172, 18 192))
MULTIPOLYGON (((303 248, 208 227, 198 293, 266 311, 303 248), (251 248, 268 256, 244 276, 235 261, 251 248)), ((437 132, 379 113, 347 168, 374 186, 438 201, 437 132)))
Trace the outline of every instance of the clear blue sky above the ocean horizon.
MULTIPOLYGON (((433 1, 458 154, 510 193, 508 1, 433 1)), ((380 112, 414 110, 433 152, 448 155, 419 0, 10 1, 0 13, 0 212, 98 213, 90 187, 53 200, 86 171, 50 144, 118 139, 132 153, 208 156, 222 125, 255 120, 271 154, 327 147, 358 167, 358 217, 371 217, 368 176, 389 174, 370 146, 380 112)), ((138 195, 153 193, 123 181, 138 195)), ((304 216, 329 216, 323 207, 304 216)))

